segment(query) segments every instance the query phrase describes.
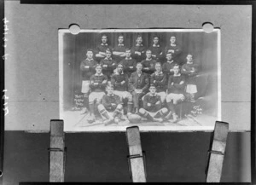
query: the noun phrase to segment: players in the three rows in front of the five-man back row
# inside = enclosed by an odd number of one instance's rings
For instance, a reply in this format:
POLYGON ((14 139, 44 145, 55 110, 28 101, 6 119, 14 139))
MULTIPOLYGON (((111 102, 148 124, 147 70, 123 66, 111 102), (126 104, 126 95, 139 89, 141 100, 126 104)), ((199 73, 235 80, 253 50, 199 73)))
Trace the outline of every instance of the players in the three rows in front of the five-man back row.
MULTIPOLYGON (((168 53, 163 69, 160 62, 150 63, 151 60, 147 59, 135 63, 130 49, 126 50, 126 58, 119 64, 112 61, 110 51, 109 55, 108 50, 106 53, 106 58, 97 64, 92 51, 88 50, 87 58, 80 66, 84 77, 82 93, 85 113, 87 108, 90 109, 89 123, 96 121, 95 111, 101 114, 105 124, 134 118, 134 114, 149 121, 172 119, 176 122, 177 103, 184 100, 195 102, 198 66, 193 63, 192 55, 187 55, 187 63, 179 66, 168 53)), ((147 54, 149 57, 150 52, 147 51, 147 54)))

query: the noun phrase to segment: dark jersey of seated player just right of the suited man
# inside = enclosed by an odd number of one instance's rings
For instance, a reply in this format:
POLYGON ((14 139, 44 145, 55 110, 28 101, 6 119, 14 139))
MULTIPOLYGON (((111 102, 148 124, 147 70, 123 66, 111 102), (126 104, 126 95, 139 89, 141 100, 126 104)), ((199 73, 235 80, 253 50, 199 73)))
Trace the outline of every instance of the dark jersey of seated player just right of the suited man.
POLYGON ((166 92, 167 78, 163 72, 154 72, 150 77, 150 84, 154 84, 156 92, 166 92), (155 81, 155 82, 154 82, 155 81))

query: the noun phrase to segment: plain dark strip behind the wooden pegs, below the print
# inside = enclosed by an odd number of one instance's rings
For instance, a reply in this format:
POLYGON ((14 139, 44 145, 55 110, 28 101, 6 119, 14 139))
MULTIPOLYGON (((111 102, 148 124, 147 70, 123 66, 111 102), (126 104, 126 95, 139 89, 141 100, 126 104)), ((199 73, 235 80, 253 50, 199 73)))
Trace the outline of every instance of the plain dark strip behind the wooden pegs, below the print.
MULTIPOLYGON (((131 182, 125 132, 65 134, 65 182, 131 182)), ((210 132, 141 133, 148 182, 205 182, 210 132)), ((248 160, 241 142, 250 133, 229 133, 221 182, 244 182, 248 160)), ((49 133, 6 131, 4 185, 49 182, 49 133)), ((248 182, 248 181, 246 181, 248 182)))

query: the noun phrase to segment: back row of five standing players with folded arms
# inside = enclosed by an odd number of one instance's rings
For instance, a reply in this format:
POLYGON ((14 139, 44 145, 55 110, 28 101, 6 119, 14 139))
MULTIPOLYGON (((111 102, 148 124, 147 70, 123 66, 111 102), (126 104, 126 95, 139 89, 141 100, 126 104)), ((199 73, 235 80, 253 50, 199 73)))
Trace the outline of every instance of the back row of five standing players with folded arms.
MULTIPOLYGON (((126 57, 126 48, 127 47, 125 47, 123 35, 119 35, 118 45, 114 48, 108 45, 107 35, 102 35, 102 43, 97 45, 95 49, 96 61, 101 61, 102 59, 107 57, 107 49, 113 52, 113 59, 115 61, 122 61, 126 57)), ((153 60, 160 61, 161 63, 165 60, 165 56, 167 53, 172 53, 172 58, 176 59, 177 56, 180 55, 182 52, 181 48, 176 43, 175 36, 172 36, 170 38, 170 45, 166 46, 165 48, 160 46, 160 38, 158 36, 154 36, 153 44, 150 47, 146 48, 143 45, 142 36, 138 35, 136 39, 136 45, 131 48, 131 57, 136 61, 143 61, 146 58, 147 50, 151 51, 153 60)))

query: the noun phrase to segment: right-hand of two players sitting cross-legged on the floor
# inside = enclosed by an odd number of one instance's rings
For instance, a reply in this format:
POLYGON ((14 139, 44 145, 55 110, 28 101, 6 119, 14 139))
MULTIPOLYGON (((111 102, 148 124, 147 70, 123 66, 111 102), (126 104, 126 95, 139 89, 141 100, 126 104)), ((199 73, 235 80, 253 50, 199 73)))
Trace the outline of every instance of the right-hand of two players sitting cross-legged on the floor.
POLYGON ((144 96, 143 108, 139 109, 139 113, 142 117, 157 122, 163 122, 162 118, 168 113, 167 108, 162 107, 160 95, 156 94, 154 84, 150 84, 149 93, 144 96))

